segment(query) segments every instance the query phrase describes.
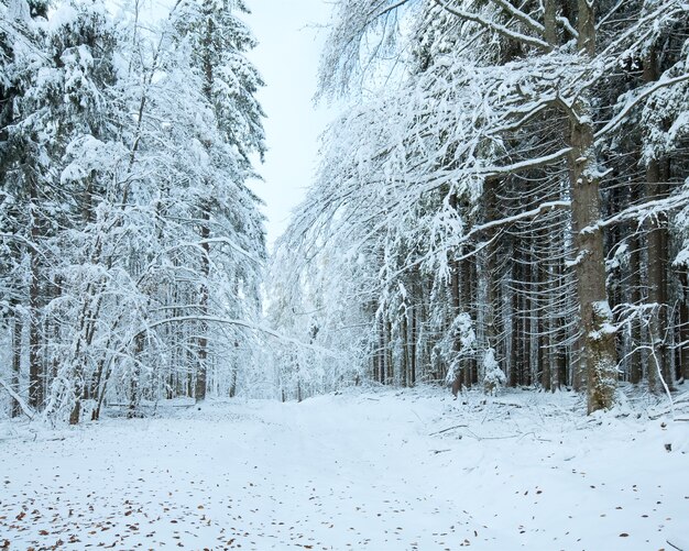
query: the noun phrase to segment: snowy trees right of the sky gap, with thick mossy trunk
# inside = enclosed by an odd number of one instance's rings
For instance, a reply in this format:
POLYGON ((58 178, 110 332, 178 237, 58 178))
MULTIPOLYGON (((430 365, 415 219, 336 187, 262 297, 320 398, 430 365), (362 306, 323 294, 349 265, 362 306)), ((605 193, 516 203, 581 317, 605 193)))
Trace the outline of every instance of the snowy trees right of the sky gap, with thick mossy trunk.
POLYGON ((300 286, 324 334, 367 328, 349 371, 459 387, 496 362, 513 386, 586 387, 589 411, 621 379, 683 381, 688 15, 675 0, 336 4, 321 93, 353 101, 282 247, 294 282, 332 283, 300 286))

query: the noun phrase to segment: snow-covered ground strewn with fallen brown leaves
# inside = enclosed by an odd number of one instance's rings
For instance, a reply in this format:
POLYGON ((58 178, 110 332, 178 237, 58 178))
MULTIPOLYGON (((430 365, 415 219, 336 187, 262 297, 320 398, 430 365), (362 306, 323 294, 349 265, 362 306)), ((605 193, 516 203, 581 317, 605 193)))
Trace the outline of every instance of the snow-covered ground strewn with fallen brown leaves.
POLYGON ((689 551, 689 393, 446 393, 0 423, 0 549, 689 551))

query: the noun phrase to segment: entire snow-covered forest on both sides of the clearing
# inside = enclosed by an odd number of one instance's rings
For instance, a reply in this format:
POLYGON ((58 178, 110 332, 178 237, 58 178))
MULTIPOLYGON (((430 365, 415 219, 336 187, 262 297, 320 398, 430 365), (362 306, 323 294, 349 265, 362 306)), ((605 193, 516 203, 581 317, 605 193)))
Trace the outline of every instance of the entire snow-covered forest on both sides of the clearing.
POLYGON ((243 2, 0 10, 4 414, 687 377, 686 3, 336 3, 270 261, 243 2))

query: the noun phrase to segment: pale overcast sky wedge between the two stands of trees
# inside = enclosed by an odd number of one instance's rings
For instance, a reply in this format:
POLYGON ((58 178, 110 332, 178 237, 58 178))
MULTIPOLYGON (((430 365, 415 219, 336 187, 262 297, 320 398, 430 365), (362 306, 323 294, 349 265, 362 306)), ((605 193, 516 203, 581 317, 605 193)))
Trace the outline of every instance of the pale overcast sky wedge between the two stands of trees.
POLYGON ((265 201, 267 240, 285 230, 289 212, 304 197, 316 166, 317 139, 331 112, 315 109, 318 56, 327 23, 326 0, 251 0, 247 22, 260 42, 250 58, 266 86, 259 100, 269 152, 259 170, 264 183, 252 186, 265 201))

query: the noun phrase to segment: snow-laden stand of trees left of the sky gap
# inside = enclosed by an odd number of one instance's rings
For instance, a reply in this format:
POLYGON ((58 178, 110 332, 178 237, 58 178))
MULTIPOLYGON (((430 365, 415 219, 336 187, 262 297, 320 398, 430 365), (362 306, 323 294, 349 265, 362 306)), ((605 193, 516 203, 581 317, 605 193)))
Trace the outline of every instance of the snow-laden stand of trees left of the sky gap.
POLYGON ((135 415, 142 398, 241 384, 265 260, 245 185, 263 130, 243 9, 182 1, 144 24, 139 2, 0 2, 13 415, 21 400, 76 423, 108 399, 135 415))

